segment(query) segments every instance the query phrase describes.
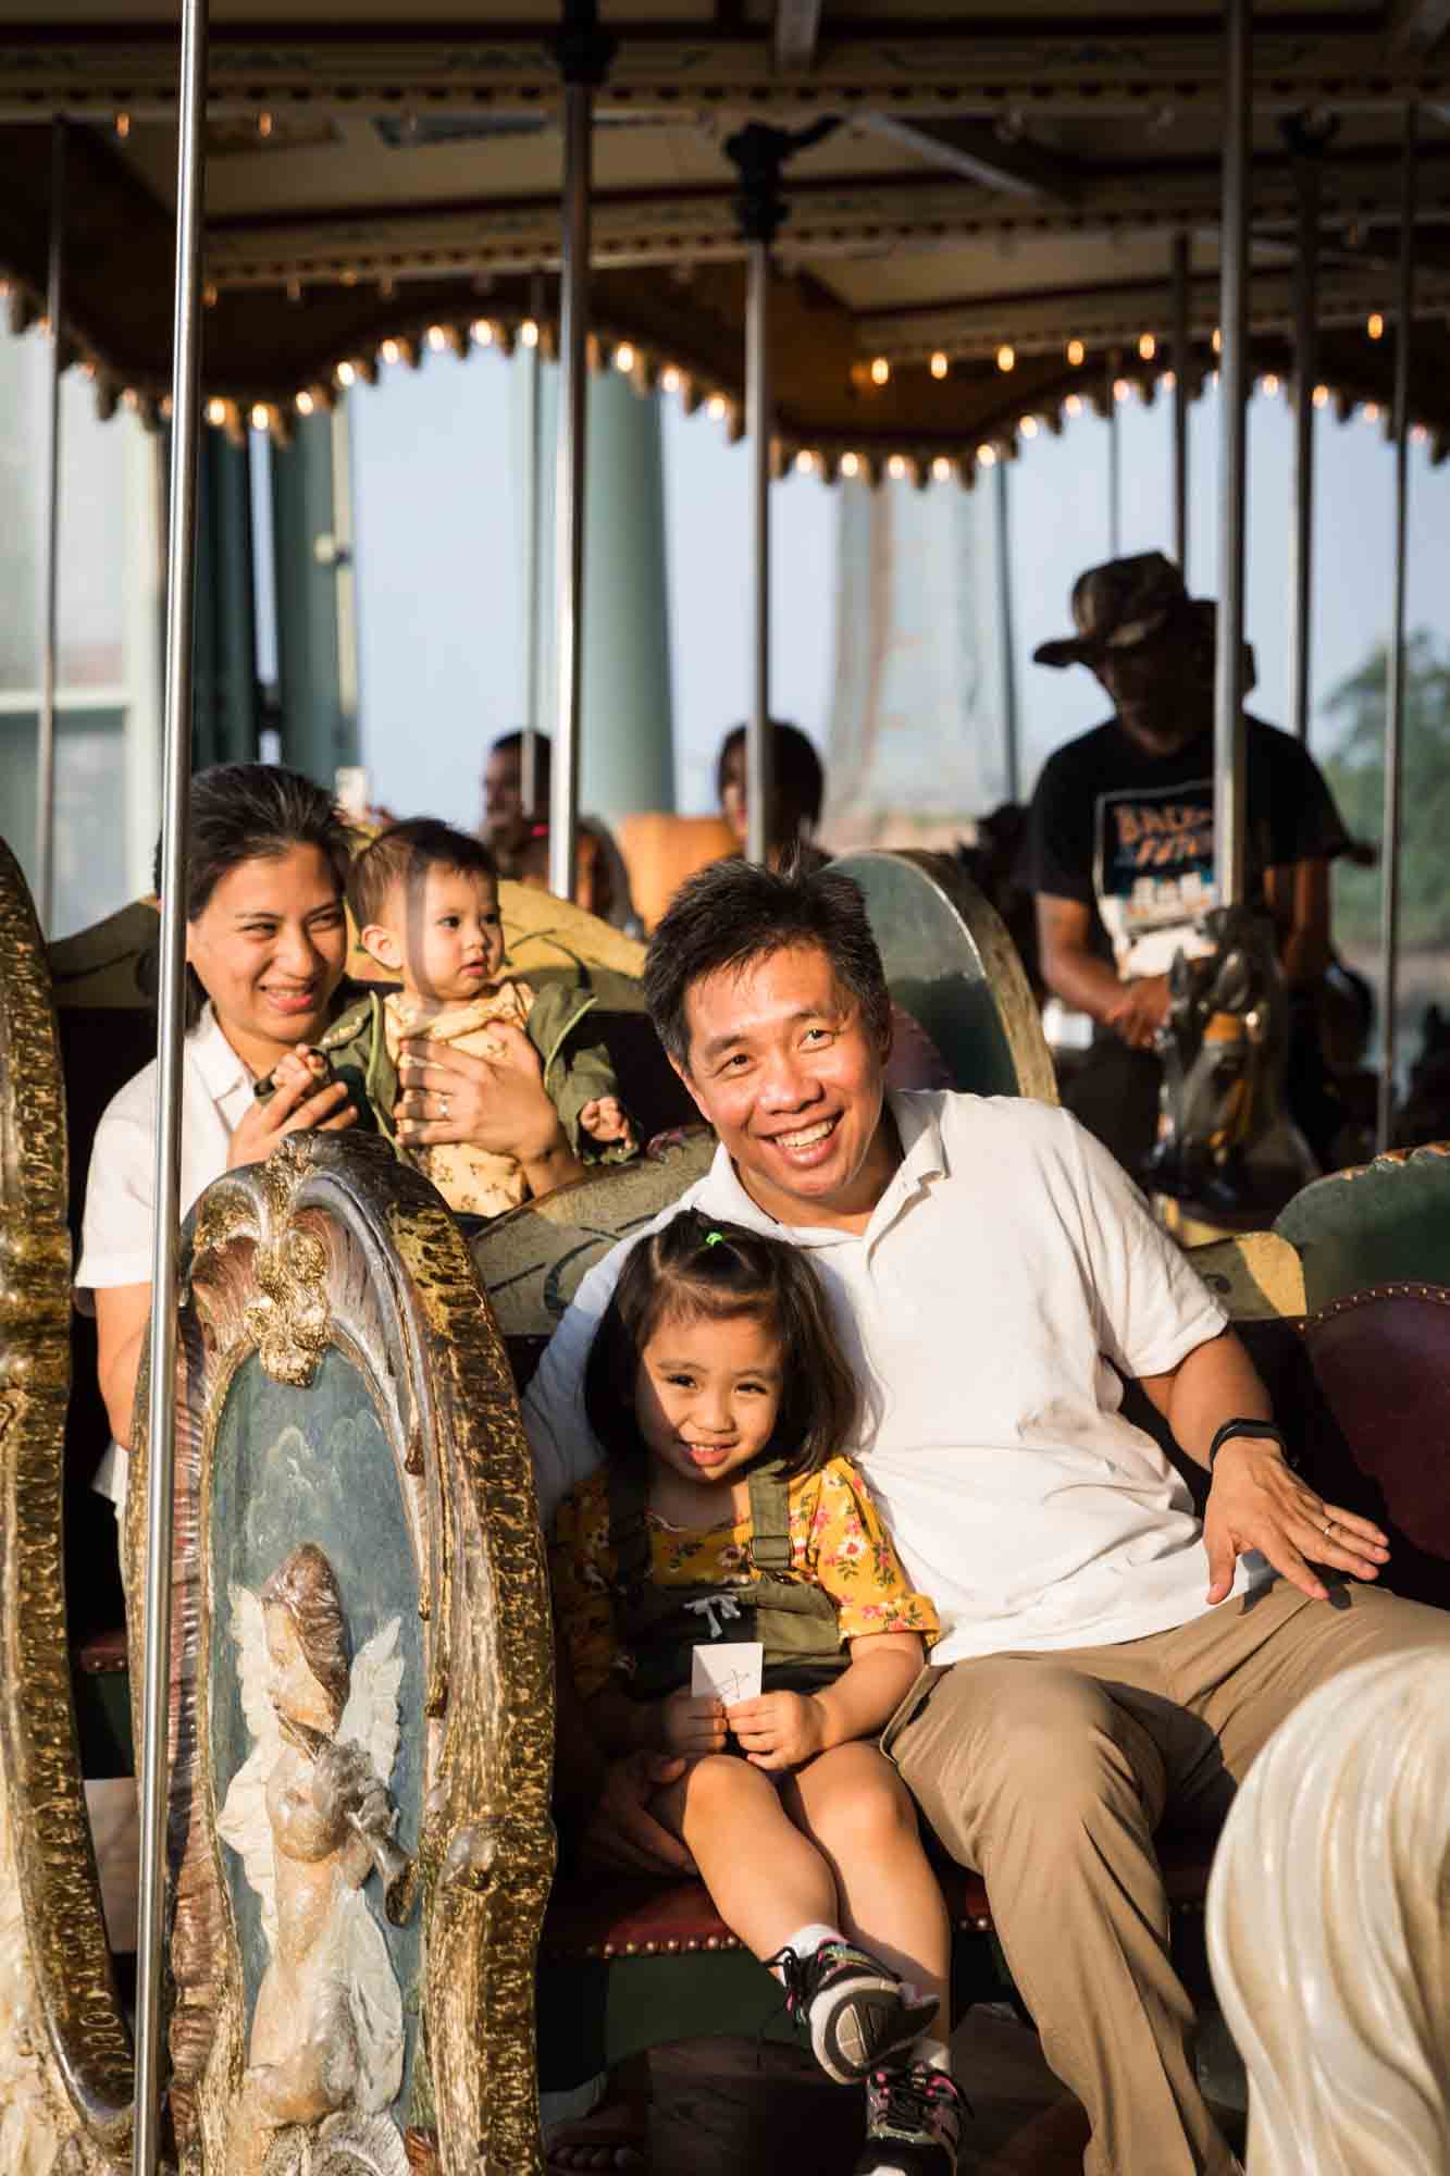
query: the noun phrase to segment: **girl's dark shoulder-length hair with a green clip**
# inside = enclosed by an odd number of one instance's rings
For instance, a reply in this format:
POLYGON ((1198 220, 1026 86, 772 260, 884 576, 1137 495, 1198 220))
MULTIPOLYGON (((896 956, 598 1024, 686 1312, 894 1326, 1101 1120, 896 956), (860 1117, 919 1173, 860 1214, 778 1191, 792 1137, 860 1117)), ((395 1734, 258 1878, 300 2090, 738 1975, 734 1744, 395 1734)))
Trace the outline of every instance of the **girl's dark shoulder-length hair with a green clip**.
POLYGON ((642 1458, 634 1417, 640 1356, 660 1323, 753 1314, 782 1343, 771 1456, 795 1480, 849 1449, 860 1390, 806 1253, 745 1225, 681 1210, 631 1249, 590 1345, 583 1410, 610 1458, 642 1458))

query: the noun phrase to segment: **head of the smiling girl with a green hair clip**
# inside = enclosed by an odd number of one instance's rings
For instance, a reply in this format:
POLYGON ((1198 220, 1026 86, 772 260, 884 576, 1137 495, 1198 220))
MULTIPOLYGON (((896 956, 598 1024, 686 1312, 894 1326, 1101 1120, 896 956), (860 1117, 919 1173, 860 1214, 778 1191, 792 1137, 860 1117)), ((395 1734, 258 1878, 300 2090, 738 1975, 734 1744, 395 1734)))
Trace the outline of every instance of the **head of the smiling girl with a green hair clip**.
POLYGON ((583 1406, 610 1458, 653 1454, 710 1482, 762 1454, 816 1473, 851 1445, 860 1390, 808 1256, 681 1210, 629 1251, 583 1406))

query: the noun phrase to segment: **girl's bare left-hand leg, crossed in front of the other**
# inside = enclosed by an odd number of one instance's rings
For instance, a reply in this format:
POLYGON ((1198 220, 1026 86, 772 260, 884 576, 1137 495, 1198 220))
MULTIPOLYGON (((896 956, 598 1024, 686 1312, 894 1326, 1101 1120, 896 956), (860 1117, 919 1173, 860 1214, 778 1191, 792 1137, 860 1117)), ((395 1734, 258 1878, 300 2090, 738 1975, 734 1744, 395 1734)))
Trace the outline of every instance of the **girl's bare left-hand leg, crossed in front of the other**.
POLYGON ((840 1926, 836 1876, 749 1760, 705 1754, 651 1810, 688 1845, 721 1919, 758 1958, 803 1926, 840 1926))

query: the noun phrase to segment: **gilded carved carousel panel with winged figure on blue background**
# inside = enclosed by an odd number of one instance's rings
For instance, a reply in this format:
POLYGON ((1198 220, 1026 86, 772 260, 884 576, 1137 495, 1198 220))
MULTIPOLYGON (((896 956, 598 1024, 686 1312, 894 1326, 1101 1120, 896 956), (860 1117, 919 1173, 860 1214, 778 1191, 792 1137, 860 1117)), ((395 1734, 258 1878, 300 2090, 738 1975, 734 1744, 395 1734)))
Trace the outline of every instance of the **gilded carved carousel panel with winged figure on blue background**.
POLYGON ((361 1138, 220 1179, 176 1397, 181 2165, 538 2169, 544 1565, 503 1343, 438 1195, 361 1138))

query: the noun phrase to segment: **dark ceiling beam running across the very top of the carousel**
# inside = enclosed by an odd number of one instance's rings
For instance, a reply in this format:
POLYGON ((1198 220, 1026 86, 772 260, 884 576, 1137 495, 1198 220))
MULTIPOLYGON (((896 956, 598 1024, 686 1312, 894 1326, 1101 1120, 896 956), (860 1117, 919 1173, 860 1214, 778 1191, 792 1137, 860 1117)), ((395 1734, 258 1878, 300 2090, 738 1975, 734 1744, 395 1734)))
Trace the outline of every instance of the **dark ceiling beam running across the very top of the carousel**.
MULTIPOLYGON (((1439 0, 1422 0, 1430 9, 1439 0)), ((1415 20, 1422 20, 1420 15, 1415 20)), ((1023 37, 1015 24, 962 28, 960 20, 832 26, 810 74, 775 65, 771 28, 712 35, 699 22, 629 26, 601 107, 629 113, 838 111, 845 98, 875 111, 1032 115, 1219 113, 1224 100, 1221 28, 1206 17, 1132 22, 1104 30, 1089 11, 1069 28, 1023 37)), ((1450 98, 1450 59, 1391 48, 1372 20, 1324 30, 1285 17, 1254 39, 1254 107, 1398 111, 1406 96, 1450 98)), ((259 39, 255 26, 218 26, 211 48, 209 118, 396 109, 414 100, 429 113, 538 113, 557 91, 546 33, 529 24, 477 26, 411 22, 342 28, 305 15, 285 35, 259 39)), ((152 22, 72 24, 0 33, 0 118, 65 113, 107 122, 174 122, 174 30, 152 22)))

